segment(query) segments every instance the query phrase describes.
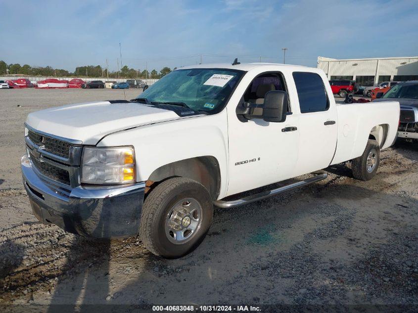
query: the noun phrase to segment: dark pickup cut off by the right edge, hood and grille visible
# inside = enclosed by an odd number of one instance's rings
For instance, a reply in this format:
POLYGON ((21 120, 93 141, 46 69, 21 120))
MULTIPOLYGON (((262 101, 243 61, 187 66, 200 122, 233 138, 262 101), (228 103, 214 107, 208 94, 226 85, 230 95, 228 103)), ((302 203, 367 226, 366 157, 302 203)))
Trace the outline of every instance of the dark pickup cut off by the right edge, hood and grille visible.
POLYGON ((418 139, 418 81, 399 83, 373 101, 398 101, 401 105, 398 137, 418 139))

